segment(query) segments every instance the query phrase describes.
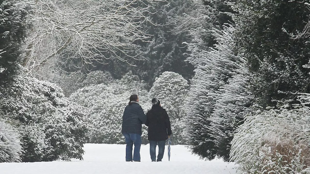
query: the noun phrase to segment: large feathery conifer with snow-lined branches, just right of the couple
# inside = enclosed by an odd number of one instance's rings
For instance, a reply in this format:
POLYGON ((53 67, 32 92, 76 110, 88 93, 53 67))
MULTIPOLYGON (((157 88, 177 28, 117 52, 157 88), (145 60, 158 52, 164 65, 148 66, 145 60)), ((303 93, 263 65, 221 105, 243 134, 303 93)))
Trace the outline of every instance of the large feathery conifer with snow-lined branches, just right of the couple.
POLYGON ((189 61, 196 63, 195 76, 188 94, 186 136, 194 154, 228 160, 230 141, 239 122, 247 113, 251 96, 246 89, 249 79, 246 59, 235 53, 232 36, 235 27, 214 28, 217 43, 209 50, 189 44, 189 61))

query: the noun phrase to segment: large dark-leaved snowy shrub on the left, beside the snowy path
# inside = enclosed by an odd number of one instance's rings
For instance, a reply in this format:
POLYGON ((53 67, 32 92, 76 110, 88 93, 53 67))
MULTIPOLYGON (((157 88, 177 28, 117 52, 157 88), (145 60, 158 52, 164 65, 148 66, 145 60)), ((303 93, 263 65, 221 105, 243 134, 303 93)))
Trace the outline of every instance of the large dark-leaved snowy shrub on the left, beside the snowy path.
POLYGON ((88 121, 58 86, 19 75, 11 88, 1 91, 4 117, 20 122, 22 161, 82 159, 88 121))

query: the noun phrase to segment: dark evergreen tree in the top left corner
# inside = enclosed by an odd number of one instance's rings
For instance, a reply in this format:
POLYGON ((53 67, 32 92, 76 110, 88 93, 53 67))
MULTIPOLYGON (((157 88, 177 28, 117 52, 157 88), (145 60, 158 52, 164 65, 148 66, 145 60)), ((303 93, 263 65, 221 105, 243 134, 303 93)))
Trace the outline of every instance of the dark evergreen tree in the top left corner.
POLYGON ((18 73, 21 43, 31 28, 33 1, 0 1, 0 86, 8 85, 18 73))

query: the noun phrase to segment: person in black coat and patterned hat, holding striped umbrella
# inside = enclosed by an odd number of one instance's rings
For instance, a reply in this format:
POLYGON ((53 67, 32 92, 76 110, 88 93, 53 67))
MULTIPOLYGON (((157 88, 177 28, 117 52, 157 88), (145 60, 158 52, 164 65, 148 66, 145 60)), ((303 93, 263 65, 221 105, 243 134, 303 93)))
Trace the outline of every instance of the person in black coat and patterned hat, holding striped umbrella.
POLYGON ((152 109, 146 114, 145 125, 148 126, 148 141, 150 142, 151 160, 156 161, 156 146, 158 145, 157 161, 162 161, 166 139, 170 138, 171 125, 169 116, 160 101, 152 99, 152 109))

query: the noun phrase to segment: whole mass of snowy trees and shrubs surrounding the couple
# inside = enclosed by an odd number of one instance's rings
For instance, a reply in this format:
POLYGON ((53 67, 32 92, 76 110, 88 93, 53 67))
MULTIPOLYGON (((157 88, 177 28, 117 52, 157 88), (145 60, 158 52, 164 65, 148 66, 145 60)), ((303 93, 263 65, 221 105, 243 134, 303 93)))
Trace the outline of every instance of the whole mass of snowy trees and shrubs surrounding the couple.
MULTIPOLYGON (((174 144, 241 173, 310 173, 310 2, 0 1, 0 161, 124 143, 138 94, 174 144)), ((143 143, 147 127, 143 127, 143 143)))

